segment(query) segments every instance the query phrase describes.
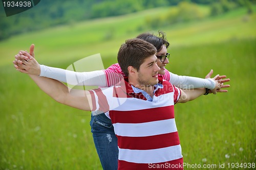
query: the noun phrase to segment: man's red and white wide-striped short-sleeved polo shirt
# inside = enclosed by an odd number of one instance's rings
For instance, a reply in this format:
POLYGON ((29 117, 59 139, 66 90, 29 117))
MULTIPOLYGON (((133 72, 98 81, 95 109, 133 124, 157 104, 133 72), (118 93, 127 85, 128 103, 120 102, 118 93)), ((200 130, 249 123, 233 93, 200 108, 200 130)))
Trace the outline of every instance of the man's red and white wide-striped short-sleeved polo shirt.
POLYGON ((135 93, 127 81, 120 86, 90 90, 93 110, 109 111, 118 138, 118 169, 183 169, 181 145, 174 117, 180 89, 159 76, 163 88, 153 101, 135 93))

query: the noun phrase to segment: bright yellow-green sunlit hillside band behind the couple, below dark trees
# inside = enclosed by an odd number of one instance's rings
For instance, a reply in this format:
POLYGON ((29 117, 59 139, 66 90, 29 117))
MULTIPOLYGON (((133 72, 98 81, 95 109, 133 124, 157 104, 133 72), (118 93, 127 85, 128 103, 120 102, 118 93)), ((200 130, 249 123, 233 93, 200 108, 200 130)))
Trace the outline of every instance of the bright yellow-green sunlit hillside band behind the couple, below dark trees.
POLYGON ((102 58, 115 57, 125 39, 147 31, 166 32, 173 47, 256 36, 256 15, 247 15, 244 8, 219 17, 157 27, 154 30, 146 27, 147 17, 164 15, 170 10, 173 8, 151 9, 14 36, 0 42, 0 52, 5 54, 1 57, 0 65, 10 63, 10 58, 17 51, 28 50, 31 43, 36 46, 38 61, 51 60, 53 63, 59 59, 75 61, 97 53, 100 53, 102 58))

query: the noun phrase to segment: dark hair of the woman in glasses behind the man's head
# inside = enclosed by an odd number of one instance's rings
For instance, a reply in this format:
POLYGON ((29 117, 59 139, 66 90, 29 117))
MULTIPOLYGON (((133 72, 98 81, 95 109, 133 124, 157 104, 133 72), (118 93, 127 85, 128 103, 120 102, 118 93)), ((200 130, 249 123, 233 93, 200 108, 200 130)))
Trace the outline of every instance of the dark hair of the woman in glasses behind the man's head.
POLYGON ((138 35, 136 38, 143 39, 147 42, 152 43, 156 48, 157 52, 160 52, 162 50, 163 45, 166 46, 166 48, 169 47, 169 42, 165 39, 165 33, 162 31, 158 31, 159 36, 155 36, 151 33, 142 33, 138 35))

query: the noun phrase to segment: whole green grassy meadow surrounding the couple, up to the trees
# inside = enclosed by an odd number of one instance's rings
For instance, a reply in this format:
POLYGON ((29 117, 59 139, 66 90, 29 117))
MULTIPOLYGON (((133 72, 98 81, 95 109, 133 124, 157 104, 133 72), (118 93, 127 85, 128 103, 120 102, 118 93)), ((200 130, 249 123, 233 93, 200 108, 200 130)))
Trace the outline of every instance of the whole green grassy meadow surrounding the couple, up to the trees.
MULTIPOLYGON (((255 6, 253 9, 256 11, 255 6)), ((209 94, 175 106, 184 162, 217 166, 204 169, 256 163, 256 14, 247 15, 242 8, 156 30, 145 27, 146 17, 168 10, 70 23, 1 41, 0 169, 102 169, 91 134, 90 112, 55 102, 28 75, 17 72, 12 61, 19 50, 29 50, 34 43, 40 64, 61 68, 100 53, 107 68, 117 62, 125 39, 158 30, 166 33, 171 44, 168 70, 204 78, 214 69, 214 76, 231 79, 228 93, 209 94)))

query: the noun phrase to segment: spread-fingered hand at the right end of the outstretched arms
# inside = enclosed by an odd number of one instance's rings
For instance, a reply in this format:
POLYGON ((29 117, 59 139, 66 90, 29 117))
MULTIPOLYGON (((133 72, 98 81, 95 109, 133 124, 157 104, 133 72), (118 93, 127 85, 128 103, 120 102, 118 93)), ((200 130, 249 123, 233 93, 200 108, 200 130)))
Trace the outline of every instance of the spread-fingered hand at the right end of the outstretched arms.
MULTIPOLYGON (((205 79, 210 79, 211 75, 214 73, 214 70, 210 70, 210 72, 205 76, 205 79)), ((227 90, 223 90, 222 88, 227 88, 230 87, 230 85, 224 85, 223 83, 229 82, 230 79, 225 79, 226 76, 215 76, 214 78, 212 78, 212 80, 214 80, 217 83, 220 83, 220 89, 218 89, 216 86, 214 89, 210 90, 210 93, 214 93, 216 94, 216 92, 227 92, 227 90), (224 80, 223 80, 224 79, 224 80)))

